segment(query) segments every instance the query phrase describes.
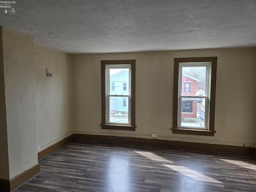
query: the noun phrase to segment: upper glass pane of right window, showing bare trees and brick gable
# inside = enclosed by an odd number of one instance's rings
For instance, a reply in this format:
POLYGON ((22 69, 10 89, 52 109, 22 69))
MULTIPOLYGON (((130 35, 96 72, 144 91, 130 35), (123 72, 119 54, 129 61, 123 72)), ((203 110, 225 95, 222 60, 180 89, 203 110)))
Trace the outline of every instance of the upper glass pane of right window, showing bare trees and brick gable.
POLYGON ((206 66, 182 67, 182 96, 205 96, 206 66))

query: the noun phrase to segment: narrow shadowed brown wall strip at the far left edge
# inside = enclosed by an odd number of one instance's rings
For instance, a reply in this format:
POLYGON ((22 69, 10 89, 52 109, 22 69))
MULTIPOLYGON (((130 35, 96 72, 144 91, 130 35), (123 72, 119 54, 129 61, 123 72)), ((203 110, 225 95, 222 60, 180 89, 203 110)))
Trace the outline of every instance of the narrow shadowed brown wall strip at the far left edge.
POLYGON ((0 117, 0 179, 9 179, 2 27, 0 27, 0 117))

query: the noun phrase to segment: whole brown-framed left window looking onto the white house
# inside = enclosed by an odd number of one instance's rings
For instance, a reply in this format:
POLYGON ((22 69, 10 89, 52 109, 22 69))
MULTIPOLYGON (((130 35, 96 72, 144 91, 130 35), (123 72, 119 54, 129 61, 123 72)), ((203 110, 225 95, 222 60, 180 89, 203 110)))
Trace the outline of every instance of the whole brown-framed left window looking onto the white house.
POLYGON ((135 60, 101 61, 101 78, 102 129, 135 131, 135 60))

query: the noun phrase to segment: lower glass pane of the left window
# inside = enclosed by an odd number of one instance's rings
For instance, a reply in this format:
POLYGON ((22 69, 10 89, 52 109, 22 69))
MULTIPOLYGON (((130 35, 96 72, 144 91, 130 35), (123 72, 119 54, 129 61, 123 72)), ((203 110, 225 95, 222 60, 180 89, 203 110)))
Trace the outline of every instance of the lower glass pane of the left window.
POLYGON ((110 96, 109 101, 109 122, 110 123, 129 123, 128 97, 110 96))

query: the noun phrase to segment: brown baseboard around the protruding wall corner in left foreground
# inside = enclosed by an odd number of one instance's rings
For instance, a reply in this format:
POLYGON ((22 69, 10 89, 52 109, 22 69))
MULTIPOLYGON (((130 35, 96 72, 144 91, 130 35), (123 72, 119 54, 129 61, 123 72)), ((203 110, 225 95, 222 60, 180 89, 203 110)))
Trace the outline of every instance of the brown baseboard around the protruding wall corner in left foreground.
POLYGON ((40 173, 40 164, 33 166, 11 180, 0 179, 0 191, 10 192, 40 173))

